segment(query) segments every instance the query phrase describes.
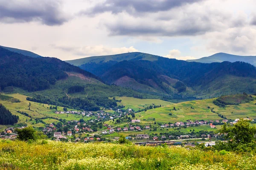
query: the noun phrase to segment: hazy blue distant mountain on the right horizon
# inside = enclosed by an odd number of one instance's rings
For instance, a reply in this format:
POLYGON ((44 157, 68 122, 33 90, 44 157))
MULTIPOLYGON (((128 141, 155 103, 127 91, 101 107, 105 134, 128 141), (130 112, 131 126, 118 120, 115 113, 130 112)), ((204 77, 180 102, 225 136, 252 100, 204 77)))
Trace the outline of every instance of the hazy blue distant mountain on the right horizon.
POLYGON ((232 54, 226 54, 226 53, 217 53, 213 54, 209 57, 203 57, 201 59, 188 59, 186 60, 188 62, 202 62, 202 63, 212 63, 212 62, 236 62, 236 61, 242 61, 242 62, 248 62, 252 65, 256 65, 256 56, 237 56, 232 54))

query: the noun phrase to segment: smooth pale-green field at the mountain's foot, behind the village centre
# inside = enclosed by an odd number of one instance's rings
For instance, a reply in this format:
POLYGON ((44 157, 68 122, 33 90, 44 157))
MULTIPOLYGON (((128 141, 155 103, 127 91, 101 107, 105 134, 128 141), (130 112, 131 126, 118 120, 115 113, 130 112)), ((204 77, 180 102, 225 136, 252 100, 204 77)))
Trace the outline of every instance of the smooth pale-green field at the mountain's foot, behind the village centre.
POLYGON ((122 100, 122 102, 118 102, 118 105, 124 105, 123 109, 133 109, 134 111, 138 111, 143 109, 144 107, 150 106, 154 103, 154 105, 172 105, 174 103, 167 102, 160 99, 137 99, 134 97, 116 97, 117 100, 122 100))

